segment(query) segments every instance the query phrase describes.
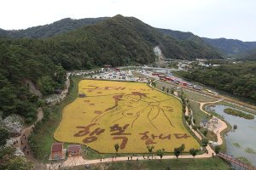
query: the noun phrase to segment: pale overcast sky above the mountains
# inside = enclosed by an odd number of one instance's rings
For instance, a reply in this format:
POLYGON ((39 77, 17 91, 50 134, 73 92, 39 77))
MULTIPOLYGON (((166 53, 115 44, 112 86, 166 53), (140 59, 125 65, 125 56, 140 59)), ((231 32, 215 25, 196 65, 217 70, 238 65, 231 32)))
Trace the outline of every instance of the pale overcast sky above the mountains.
POLYGON ((256 41, 256 0, 1 0, 0 28, 26 29, 56 20, 134 16, 150 26, 200 37, 256 41))

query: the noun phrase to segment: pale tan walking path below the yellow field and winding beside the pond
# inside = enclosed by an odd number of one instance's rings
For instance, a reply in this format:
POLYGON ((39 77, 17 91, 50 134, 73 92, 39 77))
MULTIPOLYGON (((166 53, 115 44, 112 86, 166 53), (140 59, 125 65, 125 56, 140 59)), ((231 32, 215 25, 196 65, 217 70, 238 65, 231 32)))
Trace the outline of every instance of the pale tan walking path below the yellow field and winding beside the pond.
MULTIPOLYGON (((157 88, 155 88, 155 89, 157 89, 157 88)), ((210 115, 209 113, 207 113, 207 111, 203 110, 203 105, 218 103, 221 100, 223 100, 223 99, 218 99, 217 101, 213 101, 213 102, 199 102, 199 101, 195 101, 195 100, 194 101, 200 104, 201 111, 203 111, 207 115, 210 115)), ((186 108, 185 114, 189 115, 189 111, 187 108, 186 108)), ((215 117, 215 116, 213 116, 213 117, 218 119, 218 117, 215 117)), ((227 127, 227 125, 225 122, 223 122, 220 119, 218 119, 218 122, 220 122, 221 126, 217 127, 214 130, 214 133, 216 133, 216 135, 217 135, 218 144, 223 144, 223 139, 221 138, 220 133, 227 127)), ((192 126, 189 126, 189 128, 191 129, 191 131, 193 133, 195 133, 195 136, 198 139, 200 139, 200 140, 202 139, 201 134, 198 133, 197 131, 193 130, 192 126)), ((182 158, 182 159, 183 158, 208 158, 208 157, 212 157, 213 155, 215 155, 215 152, 212 150, 212 148, 209 145, 207 145, 206 149, 208 151, 208 154, 204 153, 204 154, 201 154, 201 155, 198 155, 195 157, 193 157, 191 155, 182 155, 182 156, 178 156, 178 158, 182 158)), ((140 160, 152 159, 151 156, 149 156, 149 158, 148 158, 148 156, 145 156, 145 157, 144 156, 133 156, 132 158, 133 159, 131 160, 131 157, 130 157, 129 160, 130 161, 140 161, 140 160)), ((176 159, 176 158, 177 158, 176 156, 163 156, 162 158, 160 158, 160 156, 153 156, 153 160, 176 159)), ((59 167, 73 167, 73 166, 79 166, 79 165, 85 165, 85 164, 95 164, 95 163, 101 163, 101 162, 109 163, 109 162, 113 162, 113 161, 128 161, 128 156, 122 156, 122 157, 116 157, 116 158, 109 157, 109 158, 95 159, 95 160, 84 160, 84 158, 82 156, 68 156, 66 161, 57 162, 57 163, 53 163, 53 164, 47 164, 46 167, 47 167, 47 169, 57 169, 59 167)))

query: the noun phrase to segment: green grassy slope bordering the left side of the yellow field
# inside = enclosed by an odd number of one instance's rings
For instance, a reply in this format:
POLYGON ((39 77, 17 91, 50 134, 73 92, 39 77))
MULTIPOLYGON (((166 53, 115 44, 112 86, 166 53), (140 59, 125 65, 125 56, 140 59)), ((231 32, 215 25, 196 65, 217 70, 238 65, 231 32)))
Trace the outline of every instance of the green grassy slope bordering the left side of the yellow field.
POLYGON ((30 136, 30 144, 33 156, 38 161, 47 162, 49 159, 51 144, 55 142, 54 132, 55 128, 61 121, 61 111, 63 107, 73 101, 78 94, 78 82, 82 77, 70 77, 71 85, 69 87, 69 94, 67 98, 59 105, 48 107, 49 117, 43 122, 38 122, 32 135, 30 136))

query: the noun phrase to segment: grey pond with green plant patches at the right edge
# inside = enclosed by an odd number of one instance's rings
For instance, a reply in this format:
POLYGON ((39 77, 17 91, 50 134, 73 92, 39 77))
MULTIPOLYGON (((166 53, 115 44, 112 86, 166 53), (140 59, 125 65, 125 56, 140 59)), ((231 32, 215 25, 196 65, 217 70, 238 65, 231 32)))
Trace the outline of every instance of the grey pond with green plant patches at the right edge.
MULTIPOLYGON (((232 127, 237 125, 235 131, 230 131, 225 136, 227 153, 233 157, 244 156, 253 166, 256 166, 256 153, 250 154, 246 152, 247 148, 256 151, 256 120, 247 120, 239 116, 231 116, 224 113, 224 109, 231 108, 225 105, 209 105, 207 111, 214 111, 218 115, 224 116, 224 120, 229 122, 232 127), (237 143, 237 144, 236 144, 237 143), (236 146, 235 146, 235 145, 236 146), (238 147, 237 147, 238 145, 238 147), (240 147, 239 147, 240 145, 240 147)), ((234 108, 231 108, 234 109, 234 108)), ((246 112, 246 111, 244 111, 246 112)), ((247 112, 246 112, 247 113, 247 112)))

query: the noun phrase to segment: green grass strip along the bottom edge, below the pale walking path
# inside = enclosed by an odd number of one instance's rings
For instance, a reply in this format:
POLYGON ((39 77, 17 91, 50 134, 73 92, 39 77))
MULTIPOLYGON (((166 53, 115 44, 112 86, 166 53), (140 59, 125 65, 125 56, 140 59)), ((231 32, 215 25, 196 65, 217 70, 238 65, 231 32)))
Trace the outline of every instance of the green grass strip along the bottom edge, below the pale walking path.
MULTIPOLYGON (((136 160, 136 157, 133 158, 136 160)), ((176 169, 176 170, 223 170, 230 169, 230 166, 225 161, 218 157, 201 158, 201 159, 171 159, 171 160, 145 160, 145 161, 115 161, 107 163, 91 164, 91 170, 123 170, 123 169, 140 169, 140 170, 155 170, 155 169, 176 169)), ((67 168, 63 168, 67 169, 67 168)), ((84 170, 84 166, 70 167, 73 170, 84 170)))

